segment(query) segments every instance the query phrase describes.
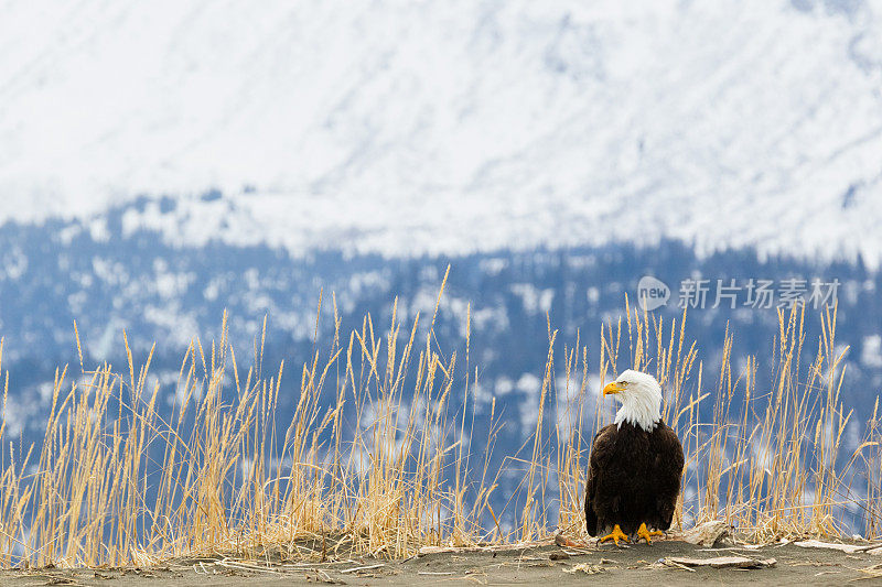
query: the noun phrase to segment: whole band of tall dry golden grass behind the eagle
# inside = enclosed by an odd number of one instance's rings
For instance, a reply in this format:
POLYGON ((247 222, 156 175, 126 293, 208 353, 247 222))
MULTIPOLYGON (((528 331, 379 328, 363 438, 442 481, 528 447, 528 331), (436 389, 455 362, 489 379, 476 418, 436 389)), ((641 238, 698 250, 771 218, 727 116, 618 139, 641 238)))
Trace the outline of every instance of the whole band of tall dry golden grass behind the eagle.
MULTIPOLYGON (((685 315, 664 324, 626 307, 626 318, 601 334, 595 371, 581 341, 559 344, 549 325, 536 428, 523 454, 495 470, 495 400, 488 436, 473 438, 470 336, 464 357, 445 357, 434 339, 437 314, 438 305, 428 325, 416 316, 402 329, 394 311, 383 334, 367 316, 344 337, 334 305, 333 339, 300 370, 283 431, 276 427, 283 366, 261 373, 261 338, 255 367, 241 370, 226 319, 220 340, 186 350, 174 390, 148 384, 152 351, 138 367, 127 343, 122 373, 108 365, 86 370, 80 354, 83 377, 68 382, 67 369, 56 372, 42 446, 22 450, 0 427, 0 444, 9 444, 0 566, 258 556, 268 546, 295 556, 310 537, 406 556, 427 544, 580 534, 587 454, 593 431, 612 415, 596 390, 626 366, 656 374, 666 421, 684 442, 686 491, 675 524, 722 517, 759 540, 828 535, 843 531, 845 509, 861 508, 867 533, 880 534, 875 411, 865 442, 850 458, 839 455, 852 414, 839 401, 835 311, 821 317, 825 336, 804 370, 804 313, 781 314, 771 390, 755 389, 753 359, 742 372, 732 368, 731 336, 709 387, 698 349, 686 344, 685 315), (591 372, 599 384, 589 385, 591 372), (734 400, 739 388, 743 404, 734 400), (158 400, 168 393, 176 399, 163 417, 158 400), (700 416, 708 402, 709 421, 700 416), (513 470, 523 471, 516 494, 497 496, 513 470), (509 511, 494 511, 497 503, 509 511), (501 522, 504 514, 514 526, 501 522)), ((8 377, 4 398, 6 389, 8 377)))

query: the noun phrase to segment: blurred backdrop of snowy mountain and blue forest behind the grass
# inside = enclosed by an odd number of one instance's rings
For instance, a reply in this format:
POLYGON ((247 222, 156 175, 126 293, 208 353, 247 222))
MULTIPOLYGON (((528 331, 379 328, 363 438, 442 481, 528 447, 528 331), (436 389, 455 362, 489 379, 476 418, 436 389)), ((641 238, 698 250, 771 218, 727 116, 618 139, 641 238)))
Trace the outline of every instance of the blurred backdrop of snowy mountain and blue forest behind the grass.
POLYGON ((7 434, 40 431, 56 367, 79 372, 74 320, 86 369, 127 372, 123 330, 136 361, 155 343, 171 406, 194 337, 218 336, 226 308, 247 354, 268 316, 263 362, 293 366, 291 405, 298 366, 330 346, 332 293, 344 331, 366 313, 388 327, 396 297, 399 319, 431 316, 448 264, 438 344, 464 345, 471 304, 474 411, 496 399, 497 450, 536 421, 549 324, 596 369, 601 324, 645 276, 655 315, 690 306, 707 373, 729 328, 760 387, 778 306, 806 303, 814 351, 824 285, 857 414, 846 442, 863 433, 882 387, 880 2, 76 0, 0 15, 7 434))

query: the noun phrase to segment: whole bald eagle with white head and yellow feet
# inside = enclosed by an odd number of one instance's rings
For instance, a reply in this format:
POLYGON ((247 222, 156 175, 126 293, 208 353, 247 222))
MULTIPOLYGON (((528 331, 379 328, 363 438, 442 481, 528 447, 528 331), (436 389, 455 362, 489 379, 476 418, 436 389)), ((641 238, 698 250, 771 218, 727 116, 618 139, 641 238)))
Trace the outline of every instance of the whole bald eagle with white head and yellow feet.
POLYGON ((624 371, 603 388, 622 406, 594 436, 585 483, 588 533, 600 542, 644 539, 670 528, 682 475, 682 446, 662 421, 662 387, 653 376, 624 371), (649 529, 653 529, 652 531, 649 529))

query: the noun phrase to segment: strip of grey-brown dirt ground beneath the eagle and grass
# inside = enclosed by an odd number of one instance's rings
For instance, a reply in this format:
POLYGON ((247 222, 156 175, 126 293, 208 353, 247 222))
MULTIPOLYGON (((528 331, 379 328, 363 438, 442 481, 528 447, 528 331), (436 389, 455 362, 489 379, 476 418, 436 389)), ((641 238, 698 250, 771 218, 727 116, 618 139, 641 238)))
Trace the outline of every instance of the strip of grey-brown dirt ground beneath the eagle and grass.
POLYGON ((652 545, 603 545, 588 551, 537 546, 502 552, 437 553, 408 561, 354 558, 331 563, 287 563, 265 567, 254 562, 191 559, 150 568, 42 569, 0 572, 10 587, 80 585, 101 587, 281 585, 882 585, 882 556, 803 548, 793 544, 703 548, 685 542, 652 545), (569 553, 569 554, 568 554, 569 553), (774 558, 773 566, 753 569, 697 567, 671 563, 674 557, 746 556, 774 558), (876 567, 873 569, 873 567, 876 567))

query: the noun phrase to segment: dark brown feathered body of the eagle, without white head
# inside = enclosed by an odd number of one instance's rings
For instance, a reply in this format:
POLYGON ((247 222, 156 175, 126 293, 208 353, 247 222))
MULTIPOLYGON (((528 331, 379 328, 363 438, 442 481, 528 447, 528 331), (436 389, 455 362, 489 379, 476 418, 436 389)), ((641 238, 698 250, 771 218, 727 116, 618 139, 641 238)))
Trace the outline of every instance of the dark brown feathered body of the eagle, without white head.
POLYGON ((684 456, 677 434, 664 422, 650 432, 623 422, 594 436, 585 485, 588 533, 609 533, 614 524, 633 536, 645 523, 667 530, 680 492, 684 456))

